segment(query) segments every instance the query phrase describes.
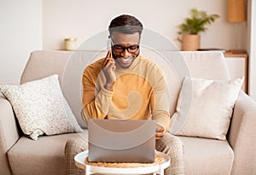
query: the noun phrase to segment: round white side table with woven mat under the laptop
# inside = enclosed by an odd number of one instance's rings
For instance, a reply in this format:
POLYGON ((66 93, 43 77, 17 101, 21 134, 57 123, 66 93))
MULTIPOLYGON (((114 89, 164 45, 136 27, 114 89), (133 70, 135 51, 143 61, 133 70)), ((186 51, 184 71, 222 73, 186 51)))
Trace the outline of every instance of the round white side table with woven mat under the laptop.
POLYGON ((88 156, 88 150, 84 150, 83 152, 79 153, 74 157, 76 166, 79 168, 84 169, 85 175, 90 175, 94 173, 101 173, 101 174, 145 174, 145 173, 156 173, 160 175, 164 175, 164 171, 167 167, 170 166, 171 160, 170 158, 161 153, 159 151, 155 151, 156 155, 159 155, 162 159, 162 162, 158 163, 155 161, 152 164, 136 164, 136 163, 107 163, 111 164, 108 166, 106 163, 104 166, 102 165, 90 165, 85 161, 86 157, 88 156), (143 165, 143 166, 142 166, 143 165))

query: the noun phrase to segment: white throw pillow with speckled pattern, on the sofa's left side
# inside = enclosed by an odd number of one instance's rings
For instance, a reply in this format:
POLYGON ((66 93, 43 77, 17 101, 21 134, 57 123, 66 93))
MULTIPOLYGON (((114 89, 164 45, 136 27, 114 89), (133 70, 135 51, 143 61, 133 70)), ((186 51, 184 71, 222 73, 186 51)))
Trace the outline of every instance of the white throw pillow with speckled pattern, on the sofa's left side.
POLYGON ((21 85, 0 85, 12 104, 20 128, 33 140, 38 136, 82 132, 53 75, 21 85))

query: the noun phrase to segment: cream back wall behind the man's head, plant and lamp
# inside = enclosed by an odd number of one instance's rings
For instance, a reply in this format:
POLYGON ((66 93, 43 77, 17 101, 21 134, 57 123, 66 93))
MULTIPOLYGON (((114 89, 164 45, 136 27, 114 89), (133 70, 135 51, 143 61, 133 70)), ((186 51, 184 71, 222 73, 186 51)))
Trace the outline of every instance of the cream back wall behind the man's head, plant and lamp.
MULTIPOLYGON (((201 34, 201 48, 234 48, 235 25, 226 20, 224 0, 44 0, 43 48, 61 49, 66 37, 77 37, 81 43, 107 30, 110 21, 119 14, 135 15, 145 28, 159 32, 180 47, 175 41, 177 25, 189 16, 189 9, 195 7, 221 16, 206 33, 201 34)), ((239 25, 239 31, 239 48, 246 48, 245 23, 239 25)))

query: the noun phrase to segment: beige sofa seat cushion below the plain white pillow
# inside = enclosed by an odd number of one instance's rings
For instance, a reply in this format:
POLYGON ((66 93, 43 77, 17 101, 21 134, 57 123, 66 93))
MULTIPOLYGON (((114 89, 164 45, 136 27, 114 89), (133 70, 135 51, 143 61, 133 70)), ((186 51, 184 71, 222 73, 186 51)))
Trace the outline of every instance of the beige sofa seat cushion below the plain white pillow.
POLYGON ((181 138, 184 144, 186 174, 230 174, 234 152, 226 140, 181 138))

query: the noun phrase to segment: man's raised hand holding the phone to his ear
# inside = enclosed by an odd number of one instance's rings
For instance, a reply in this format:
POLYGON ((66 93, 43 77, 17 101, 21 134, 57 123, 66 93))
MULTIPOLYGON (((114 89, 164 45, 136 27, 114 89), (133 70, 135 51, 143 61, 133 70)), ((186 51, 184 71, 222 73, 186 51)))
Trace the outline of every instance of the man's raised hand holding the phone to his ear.
POLYGON ((103 72, 104 75, 106 77, 106 84, 104 86, 104 88, 106 88, 108 91, 113 90, 113 84, 116 80, 116 76, 115 76, 115 61, 113 58, 111 58, 111 51, 108 51, 108 54, 105 58, 105 62, 102 66, 103 68, 103 72))

